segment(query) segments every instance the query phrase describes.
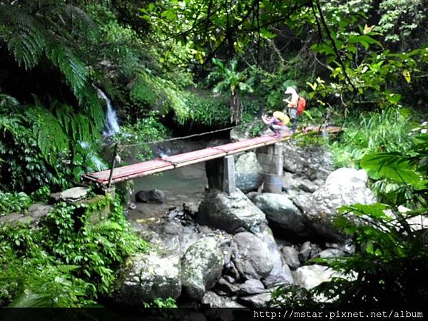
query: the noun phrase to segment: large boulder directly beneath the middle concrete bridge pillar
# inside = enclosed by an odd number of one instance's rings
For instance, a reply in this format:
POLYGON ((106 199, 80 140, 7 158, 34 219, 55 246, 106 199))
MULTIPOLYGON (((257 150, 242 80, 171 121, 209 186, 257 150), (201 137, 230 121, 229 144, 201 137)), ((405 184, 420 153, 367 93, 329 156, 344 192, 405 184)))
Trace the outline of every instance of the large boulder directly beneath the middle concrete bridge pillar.
POLYGON ((235 233, 239 228, 250 230, 265 219, 265 214, 240 190, 236 190, 232 195, 219 190, 208 190, 196 215, 198 223, 228 233, 235 233))

